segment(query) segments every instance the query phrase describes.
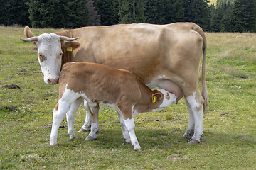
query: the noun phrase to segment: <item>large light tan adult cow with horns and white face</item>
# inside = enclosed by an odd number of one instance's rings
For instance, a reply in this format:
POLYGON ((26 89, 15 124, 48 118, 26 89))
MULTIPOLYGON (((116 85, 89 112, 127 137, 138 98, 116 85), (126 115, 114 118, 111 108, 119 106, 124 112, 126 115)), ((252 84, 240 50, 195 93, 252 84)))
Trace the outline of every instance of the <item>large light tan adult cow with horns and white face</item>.
MULTIPOLYGON (((26 26, 24 33, 26 39, 21 40, 34 42, 38 47, 38 61, 47 84, 58 83, 61 61, 95 62, 115 69, 127 69, 149 88, 159 87, 176 94, 176 103, 184 96, 189 122, 183 137, 190 139, 190 144, 200 142, 203 111, 208 108, 207 45, 203 30, 195 23, 84 27, 38 37, 26 26), (73 57, 61 58, 62 47, 73 52, 73 57), (200 94, 198 69, 202 55, 200 94)), ((68 55, 64 52, 62 57, 65 56, 68 55)), ((80 131, 90 130, 90 107, 86 101, 85 108, 85 123, 80 131)))

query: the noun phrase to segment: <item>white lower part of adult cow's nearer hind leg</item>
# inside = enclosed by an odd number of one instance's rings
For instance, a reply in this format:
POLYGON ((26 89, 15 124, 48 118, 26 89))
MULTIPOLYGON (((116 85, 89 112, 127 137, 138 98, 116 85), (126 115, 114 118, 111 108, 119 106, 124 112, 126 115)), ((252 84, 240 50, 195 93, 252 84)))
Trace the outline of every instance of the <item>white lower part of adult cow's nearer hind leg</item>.
POLYGON ((193 93, 192 96, 186 97, 186 100, 191 106, 191 111, 193 112, 193 118, 195 121, 194 135, 191 139, 194 140, 193 142, 200 142, 200 137, 203 135, 203 103, 198 103, 196 101, 196 93, 193 93))

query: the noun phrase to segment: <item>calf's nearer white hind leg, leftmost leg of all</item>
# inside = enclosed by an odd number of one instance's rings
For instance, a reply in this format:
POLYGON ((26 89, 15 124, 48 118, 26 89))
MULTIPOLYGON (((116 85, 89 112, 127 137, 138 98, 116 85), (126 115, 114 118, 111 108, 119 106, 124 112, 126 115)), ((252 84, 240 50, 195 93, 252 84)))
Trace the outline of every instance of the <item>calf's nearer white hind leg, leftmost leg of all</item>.
POLYGON ((69 103, 58 101, 58 104, 53 109, 53 124, 50 132, 50 146, 57 145, 58 128, 60 127, 60 123, 62 122, 69 107, 69 103))

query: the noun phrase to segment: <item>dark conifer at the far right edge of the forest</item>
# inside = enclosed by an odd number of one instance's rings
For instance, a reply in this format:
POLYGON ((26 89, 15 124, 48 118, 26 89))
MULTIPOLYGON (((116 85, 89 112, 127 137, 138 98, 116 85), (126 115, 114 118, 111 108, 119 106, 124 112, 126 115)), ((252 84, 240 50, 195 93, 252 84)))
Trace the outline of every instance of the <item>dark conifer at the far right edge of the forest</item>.
POLYGON ((234 32, 256 32, 255 0, 235 1, 232 18, 234 32))

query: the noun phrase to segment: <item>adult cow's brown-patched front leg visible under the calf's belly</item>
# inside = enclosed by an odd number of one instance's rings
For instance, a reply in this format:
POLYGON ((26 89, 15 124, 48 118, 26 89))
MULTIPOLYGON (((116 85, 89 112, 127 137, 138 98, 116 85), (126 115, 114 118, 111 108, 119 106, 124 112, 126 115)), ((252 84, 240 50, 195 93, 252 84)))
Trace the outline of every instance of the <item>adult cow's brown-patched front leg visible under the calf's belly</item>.
POLYGON ((92 127, 89 135, 85 140, 96 140, 97 133, 100 132, 99 127, 99 103, 90 103, 90 109, 92 111, 92 127))

